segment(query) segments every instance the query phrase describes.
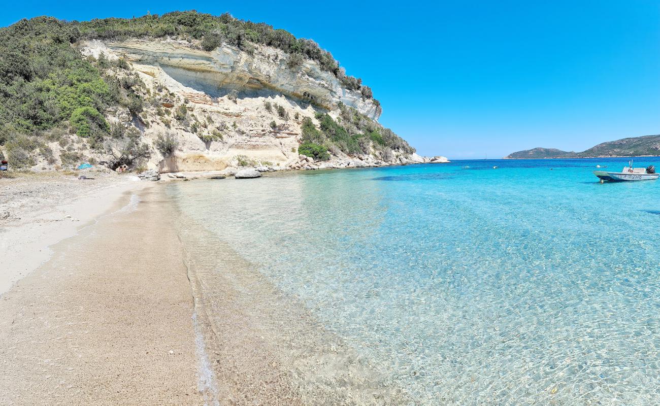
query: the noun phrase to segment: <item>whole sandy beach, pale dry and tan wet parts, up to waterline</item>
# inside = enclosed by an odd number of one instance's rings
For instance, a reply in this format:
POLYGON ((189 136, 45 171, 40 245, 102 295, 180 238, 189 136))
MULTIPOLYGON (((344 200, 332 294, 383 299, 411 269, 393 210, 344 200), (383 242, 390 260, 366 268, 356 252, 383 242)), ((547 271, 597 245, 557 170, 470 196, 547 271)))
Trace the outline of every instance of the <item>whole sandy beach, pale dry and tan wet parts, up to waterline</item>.
POLYGON ((193 298, 167 206, 146 182, 11 181, 0 403, 202 404, 193 298))

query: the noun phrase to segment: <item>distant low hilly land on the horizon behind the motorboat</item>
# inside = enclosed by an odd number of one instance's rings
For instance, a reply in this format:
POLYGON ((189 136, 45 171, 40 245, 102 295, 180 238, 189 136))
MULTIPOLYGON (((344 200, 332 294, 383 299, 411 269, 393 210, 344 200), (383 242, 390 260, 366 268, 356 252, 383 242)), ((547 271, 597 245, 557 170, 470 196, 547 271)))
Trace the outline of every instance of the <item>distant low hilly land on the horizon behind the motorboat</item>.
POLYGON ((533 148, 513 152, 504 159, 541 159, 541 158, 616 158, 624 156, 659 156, 660 135, 645 135, 607 141, 586 151, 562 151, 554 148, 533 148))

